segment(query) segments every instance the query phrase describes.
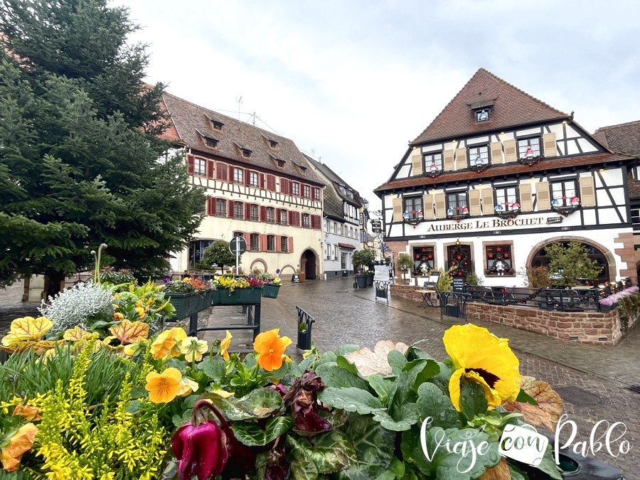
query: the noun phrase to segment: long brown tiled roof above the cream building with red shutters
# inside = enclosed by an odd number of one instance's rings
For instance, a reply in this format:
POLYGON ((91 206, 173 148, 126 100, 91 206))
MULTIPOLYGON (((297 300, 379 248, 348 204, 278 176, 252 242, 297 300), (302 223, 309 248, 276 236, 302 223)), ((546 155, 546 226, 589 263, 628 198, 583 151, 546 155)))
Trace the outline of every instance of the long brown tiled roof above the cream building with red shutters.
POLYGON ((324 185, 292 140, 168 93, 164 93, 162 99, 172 124, 164 133, 164 139, 184 144, 191 151, 203 152, 234 164, 254 166, 263 171, 272 171, 278 176, 324 185), (224 124, 223 128, 213 129, 214 121, 224 124), (218 140, 217 146, 207 146, 203 136, 218 140), (274 148, 270 146, 270 140, 277 142, 274 148), (242 149, 251 151, 249 158, 242 156, 242 149), (277 166, 277 159, 284 161, 283 168, 277 166))

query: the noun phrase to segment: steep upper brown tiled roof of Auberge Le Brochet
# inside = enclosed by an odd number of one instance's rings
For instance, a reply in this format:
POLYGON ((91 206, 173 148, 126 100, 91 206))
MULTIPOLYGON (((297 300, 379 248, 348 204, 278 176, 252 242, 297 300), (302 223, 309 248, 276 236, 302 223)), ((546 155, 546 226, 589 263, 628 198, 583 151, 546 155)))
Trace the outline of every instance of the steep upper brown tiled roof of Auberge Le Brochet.
POLYGON ((569 115, 566 113, 555 110, 481 68, 411 144, 455 139, 491 130, 513 129, 518 125, 567 117, 569 115), (472 109, 488 104, 493 105, 491 119, 476 122, 472 109))

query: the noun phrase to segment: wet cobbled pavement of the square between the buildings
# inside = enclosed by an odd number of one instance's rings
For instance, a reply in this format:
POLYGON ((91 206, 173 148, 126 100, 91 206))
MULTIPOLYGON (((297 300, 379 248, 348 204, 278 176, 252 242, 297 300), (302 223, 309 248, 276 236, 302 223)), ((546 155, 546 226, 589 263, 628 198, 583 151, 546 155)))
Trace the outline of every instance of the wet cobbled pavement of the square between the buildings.
MULTIPOLYGON (((388 279, 388 269, 379 267, 376 279, 388 279)), ((11 287, 12 288, 12 287, 11 287)), ((21 292, 20 292, 21 294, 21 292)), ((9 327, 11 315, 38 314, 36 304, 21 304, 15 292, 0 289, 0 331, 9 327)), ((300 306, 314 317, 312 337, 321 350, 331 350, 344 343, 373 347, 376 341, 390 338, 411 344, 420 342, 422 348, 434 358, 444 358, 442 334, 453 324, 464 321, 440 317, 439 309, 420 308, 417 302, 390 299, 385 302, 374 298, 374 290, 353 289, 353 278, 329 281, 285 283, 277 299, 262 299, 262 331, 278 328, 281 335, 297 341, 297 310, 300 306)), ((612 425, 624 422, 624 437, 631 450, 617 457, 604 447, 594 457, 621 470, 627 479, 640 478, 640 327, 624 338, 618 346, 583 345, 571 341, 549 338, 529 331, 471 319, 474 324, 486 326, 489 331, 509 338, 510 345, 521 361, 521 373, 549 383, 565 402, 568 420, 577 424, 577 437, 572 442, 587 442, 597 422, 612 425)), ((201 325, 242 325, 246 315, 239 306, 213 307, 201 316, 201 325)), ((206 338, 223 338, 223 332, 206 332, 206 338)), ((232 345, 246 350, 252 336, 249 331, 233 331, 232 345)), ((294 345, 289 347, 293 349, 294 345)), ((617 434, 620 428, 618 425, 617 434)), ((600 423, 595 430, 595 441, 604 442, 607 425, 600 423)), ((562 430, 560 439, 566 441, 569 431, 562 430)), ((618 454, 612 442, 612 452, 618 454)))

